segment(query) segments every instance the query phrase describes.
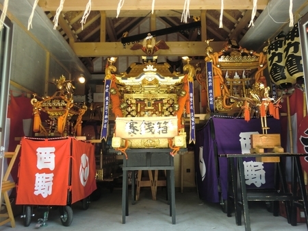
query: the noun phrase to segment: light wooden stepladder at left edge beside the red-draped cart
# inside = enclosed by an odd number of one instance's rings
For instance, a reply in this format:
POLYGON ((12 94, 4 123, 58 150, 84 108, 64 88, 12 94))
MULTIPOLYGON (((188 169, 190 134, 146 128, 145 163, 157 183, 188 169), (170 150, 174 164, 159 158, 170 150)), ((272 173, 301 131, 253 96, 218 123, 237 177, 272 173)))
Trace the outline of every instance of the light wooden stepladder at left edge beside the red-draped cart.
POLYGON ((18 151, 20 149, 21 149, 21 145, 17 145, 15 151, 5 151, 4 152, 4 158, 5 159, 10 158, 11 160, 10 160, 10 164, 8 165, 8 169, 5 171, 5 175, 3 176, 3 179, 2 179, 1 196, 3 196, 7 212, 0 213, 0 217, 6 218, 4 221, 0 222, 0 226, 2 226, 5 223, 11 222, 12 228, 15 227, 15 219, 14 219, 14 215, 12 211, 12 206, 10 204, 10 198, 8 195, 8 191, 10 191, 11 189, 14 189, 16 185, 15 185, 15 182, 11 182, 10 180, 8 180, 8 178, 10 176, 12 167, 18 155, 18 151))

